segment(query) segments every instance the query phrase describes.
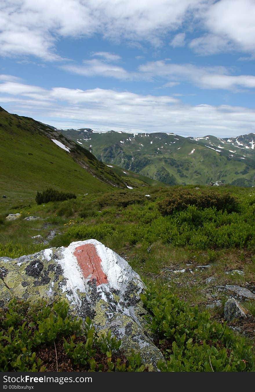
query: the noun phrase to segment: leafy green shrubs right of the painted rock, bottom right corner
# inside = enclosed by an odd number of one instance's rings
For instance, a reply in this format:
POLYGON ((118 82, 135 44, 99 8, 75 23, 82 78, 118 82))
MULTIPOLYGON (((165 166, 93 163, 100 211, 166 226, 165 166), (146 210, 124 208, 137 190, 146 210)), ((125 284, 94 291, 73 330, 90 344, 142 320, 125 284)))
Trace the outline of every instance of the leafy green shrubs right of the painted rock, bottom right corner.
POLYGON ((147 328, 158 341, 167 363, 165 372, 253 372, 255 356, 245 339, 209 312, 189 307, 174 294, 147 290, 141 299, 149 311, 147 328))

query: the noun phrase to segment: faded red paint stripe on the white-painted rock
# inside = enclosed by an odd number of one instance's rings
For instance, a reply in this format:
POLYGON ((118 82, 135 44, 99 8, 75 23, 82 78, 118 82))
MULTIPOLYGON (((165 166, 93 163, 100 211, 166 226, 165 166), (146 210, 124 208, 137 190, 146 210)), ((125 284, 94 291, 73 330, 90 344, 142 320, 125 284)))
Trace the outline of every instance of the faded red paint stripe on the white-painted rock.
POLYGON ((97 286, 108 283, 107 276, 101 267, 101 258, 98 256, 93 244, 78 246, 73 252, 82 270, 85 279, 97 279, 97 286))

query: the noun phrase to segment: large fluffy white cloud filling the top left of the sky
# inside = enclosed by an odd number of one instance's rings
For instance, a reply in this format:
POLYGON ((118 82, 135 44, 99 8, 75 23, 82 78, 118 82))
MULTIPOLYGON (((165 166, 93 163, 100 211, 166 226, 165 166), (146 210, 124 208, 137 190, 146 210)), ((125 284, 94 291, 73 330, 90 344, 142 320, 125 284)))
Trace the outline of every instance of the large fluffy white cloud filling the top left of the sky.
POLYGON ((88 38, 95 33, 113 40, 146 40, 160 45, 204 0, 2 0, 0 55, 33 55, 61 60, 59 38, 88 38))

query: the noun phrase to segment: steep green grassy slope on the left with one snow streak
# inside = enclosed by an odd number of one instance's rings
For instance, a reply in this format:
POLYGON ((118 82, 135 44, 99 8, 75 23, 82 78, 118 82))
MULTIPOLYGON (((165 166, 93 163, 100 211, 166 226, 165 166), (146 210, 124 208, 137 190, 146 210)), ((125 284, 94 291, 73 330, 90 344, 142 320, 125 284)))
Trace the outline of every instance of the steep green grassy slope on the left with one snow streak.
POLYGON ((0 196, 9 203, 34 200, 38 190, 48 187, 83 194, 127 189, 130 184, 53 127, 1 107, 0 165, 0 196))

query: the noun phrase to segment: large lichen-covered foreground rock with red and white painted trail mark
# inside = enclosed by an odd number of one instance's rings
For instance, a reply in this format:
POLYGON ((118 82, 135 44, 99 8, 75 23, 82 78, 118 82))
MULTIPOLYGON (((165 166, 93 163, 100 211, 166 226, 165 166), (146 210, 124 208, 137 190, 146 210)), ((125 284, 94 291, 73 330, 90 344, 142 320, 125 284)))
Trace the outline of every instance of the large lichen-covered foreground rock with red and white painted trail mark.
POLYGON ((127 355, 133 348, 149 370, 164 360, 145 331, 146 313, 139 294, 145 289, 126 260, 97 240, 72 242, 17 259, 0 258, 1 303, 10 298, 67 299, 74 315, 88 316, 97 332, 121 339, 127 355))

